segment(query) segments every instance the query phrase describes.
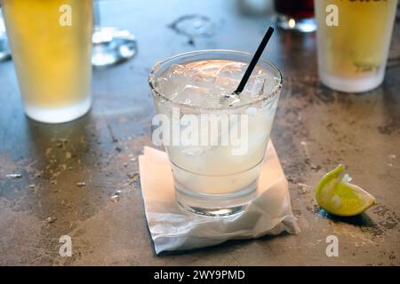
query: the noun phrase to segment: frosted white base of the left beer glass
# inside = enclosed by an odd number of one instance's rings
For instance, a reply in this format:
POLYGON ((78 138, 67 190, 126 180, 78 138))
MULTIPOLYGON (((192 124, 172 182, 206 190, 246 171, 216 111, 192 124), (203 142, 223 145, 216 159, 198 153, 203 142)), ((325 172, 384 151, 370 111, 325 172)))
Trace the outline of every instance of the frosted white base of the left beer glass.
POLYGON ((91 96, 73 106, 60 108, 43 108, 25 105, 25 113, 37 122, 62 123, 73 121, 86 114, 92 106, 91 96))

